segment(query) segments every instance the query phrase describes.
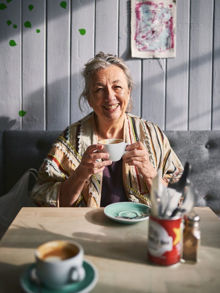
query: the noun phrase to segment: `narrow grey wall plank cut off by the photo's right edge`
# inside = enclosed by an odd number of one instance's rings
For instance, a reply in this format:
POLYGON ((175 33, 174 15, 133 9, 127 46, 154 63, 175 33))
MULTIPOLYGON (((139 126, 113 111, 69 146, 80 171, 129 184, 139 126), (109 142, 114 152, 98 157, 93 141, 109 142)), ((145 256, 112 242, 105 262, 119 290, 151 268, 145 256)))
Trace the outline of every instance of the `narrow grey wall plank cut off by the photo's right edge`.
POLYGON ((215 1, 212 129, 220 130, 220 1, 215 1))

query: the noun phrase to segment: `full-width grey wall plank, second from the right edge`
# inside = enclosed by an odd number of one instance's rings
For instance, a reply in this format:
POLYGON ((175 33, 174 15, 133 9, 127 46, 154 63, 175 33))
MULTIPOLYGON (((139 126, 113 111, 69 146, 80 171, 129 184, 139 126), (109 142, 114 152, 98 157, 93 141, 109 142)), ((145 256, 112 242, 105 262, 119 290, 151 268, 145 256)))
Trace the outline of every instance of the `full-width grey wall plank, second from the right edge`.
POLYGON ((211 129, 213 1, 191 1, 189 130, 211 129))

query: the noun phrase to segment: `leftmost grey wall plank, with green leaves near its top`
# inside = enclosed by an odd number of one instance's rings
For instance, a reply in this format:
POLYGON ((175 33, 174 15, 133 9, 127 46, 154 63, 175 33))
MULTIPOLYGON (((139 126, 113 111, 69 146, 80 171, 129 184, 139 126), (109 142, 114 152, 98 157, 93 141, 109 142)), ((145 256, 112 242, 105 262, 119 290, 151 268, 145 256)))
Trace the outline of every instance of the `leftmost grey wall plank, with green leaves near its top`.
POLYGON ((13 2, 0 10, 0 130, 21 129, 21 0, 13 2))

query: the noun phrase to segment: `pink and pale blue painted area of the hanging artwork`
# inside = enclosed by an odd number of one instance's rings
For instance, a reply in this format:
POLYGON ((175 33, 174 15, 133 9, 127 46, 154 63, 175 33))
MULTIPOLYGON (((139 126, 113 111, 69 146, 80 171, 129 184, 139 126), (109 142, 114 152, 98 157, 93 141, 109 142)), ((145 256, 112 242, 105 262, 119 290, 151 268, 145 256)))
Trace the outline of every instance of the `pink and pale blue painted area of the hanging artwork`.
POLYGON ((135 47, 138 51, 166 52, 174 47, 172 5, 145 1, 135 4, 135 47))

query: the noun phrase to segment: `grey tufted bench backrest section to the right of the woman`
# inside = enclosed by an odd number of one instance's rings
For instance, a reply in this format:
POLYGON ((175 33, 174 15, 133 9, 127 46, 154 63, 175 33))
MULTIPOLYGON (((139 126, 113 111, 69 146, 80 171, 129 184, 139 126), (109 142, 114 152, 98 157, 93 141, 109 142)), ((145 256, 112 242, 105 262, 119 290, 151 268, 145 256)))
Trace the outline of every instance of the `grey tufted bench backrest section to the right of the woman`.
POLYGON ((220 215, 220 131, 164 131, 181 163, 191 163, 190 181, 197 189, 196 206, 220 215))

